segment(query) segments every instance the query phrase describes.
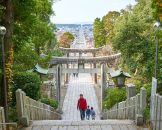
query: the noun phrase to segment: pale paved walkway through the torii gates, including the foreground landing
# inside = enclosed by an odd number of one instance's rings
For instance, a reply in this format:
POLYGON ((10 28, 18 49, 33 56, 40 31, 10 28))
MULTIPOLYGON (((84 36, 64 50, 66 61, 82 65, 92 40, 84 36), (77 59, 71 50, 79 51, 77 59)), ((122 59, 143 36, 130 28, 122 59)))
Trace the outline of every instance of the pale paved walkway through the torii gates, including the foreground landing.
MULTIPOLYGON (((80 35, 83 36, 82 30, 80 35)), ((84 38, 82 39, 84 41, 84 38)), ((85 44, 76 47, 83 48, 85 44)), ((63 103, 63 120, 33 121, 30 127, 18 130, 148 130, 137 127, 130 120, 100 120, 98 100, 93 86, 90 74, 79 74, 78 78, 71 75, 63 103), (88 105, 94 107, 97 113, 96 120, 80 121, 80 113, 76 108, 80 93, 83 93, 88 105)))

